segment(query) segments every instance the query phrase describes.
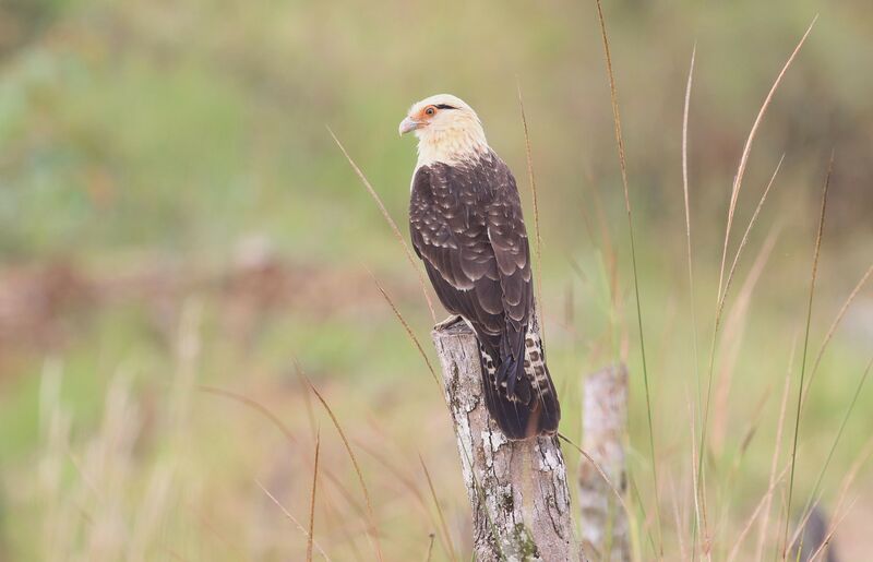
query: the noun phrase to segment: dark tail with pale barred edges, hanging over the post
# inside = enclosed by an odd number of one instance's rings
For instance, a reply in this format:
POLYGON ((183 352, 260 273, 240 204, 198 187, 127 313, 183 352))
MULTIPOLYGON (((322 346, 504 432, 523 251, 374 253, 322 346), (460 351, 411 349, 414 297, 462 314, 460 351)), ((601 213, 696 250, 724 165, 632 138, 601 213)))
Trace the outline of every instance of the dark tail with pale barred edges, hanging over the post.
POLYGON ((554 434, 561 405, 539 335, 527 331, 523 361, 512 356, 495 359, 481 343, 479 351, 486 406, 503 433, 511 440, 554 434))

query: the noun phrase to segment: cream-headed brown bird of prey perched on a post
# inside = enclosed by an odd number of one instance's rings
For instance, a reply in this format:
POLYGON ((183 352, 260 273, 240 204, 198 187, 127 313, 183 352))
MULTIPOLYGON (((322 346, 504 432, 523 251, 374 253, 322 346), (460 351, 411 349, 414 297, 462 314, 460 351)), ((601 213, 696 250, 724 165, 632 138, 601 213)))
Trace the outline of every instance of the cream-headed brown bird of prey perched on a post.
POLYGON ((418 137, 409 230, 443 306, 476 333, 491 417, 509 439, 558 431, 561 407, 534 323, 518 188, 476 112, 440 94, 400 122, 418 137))

